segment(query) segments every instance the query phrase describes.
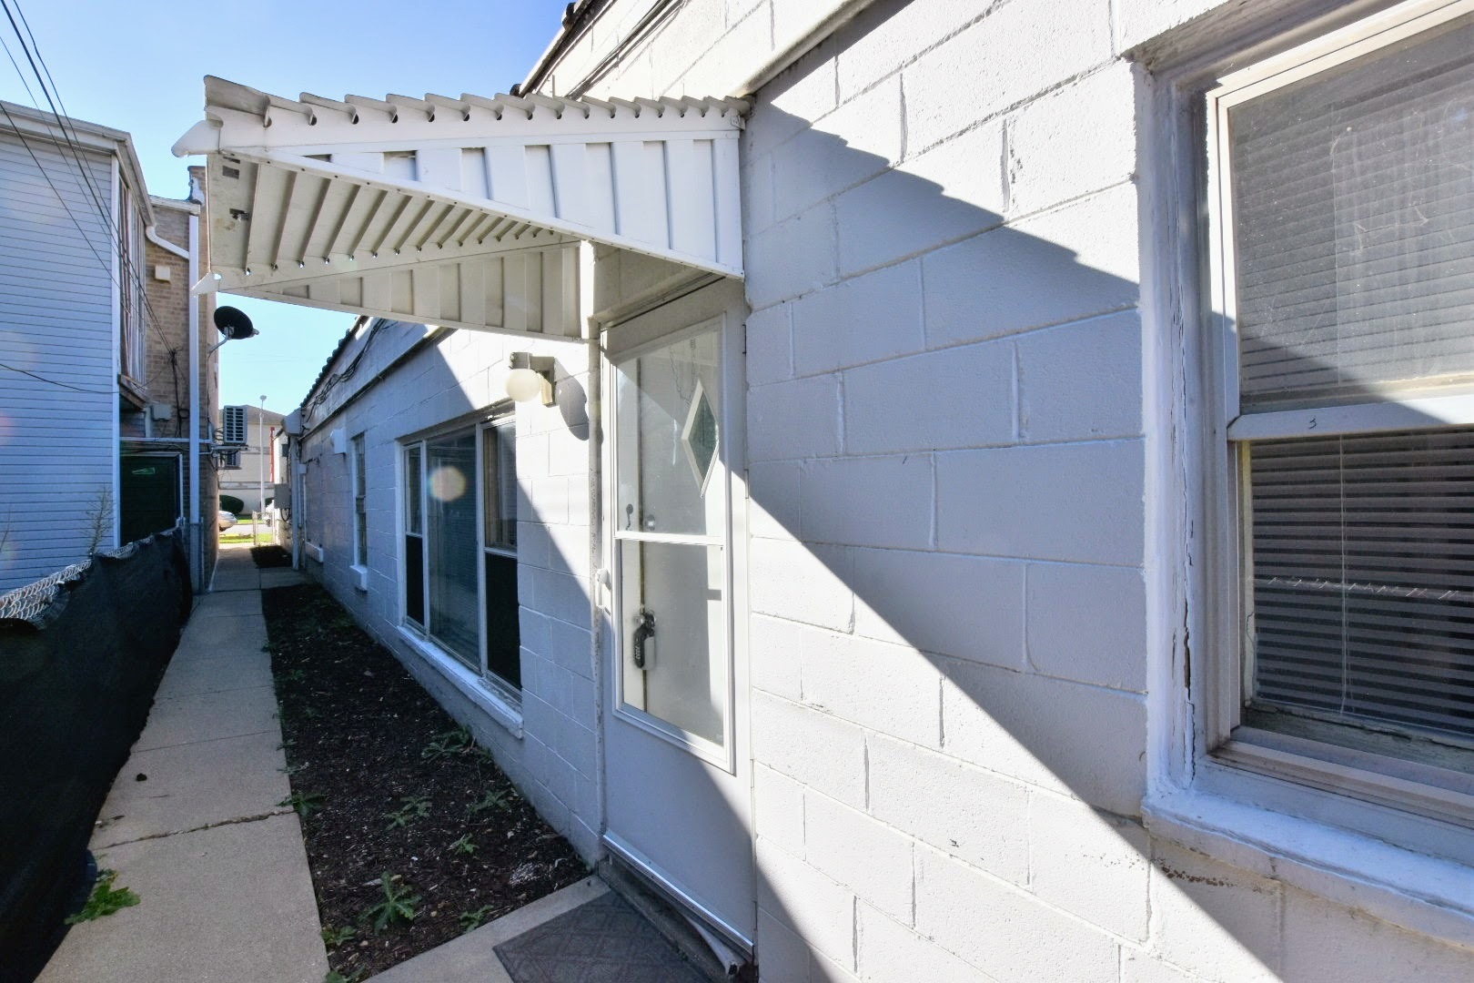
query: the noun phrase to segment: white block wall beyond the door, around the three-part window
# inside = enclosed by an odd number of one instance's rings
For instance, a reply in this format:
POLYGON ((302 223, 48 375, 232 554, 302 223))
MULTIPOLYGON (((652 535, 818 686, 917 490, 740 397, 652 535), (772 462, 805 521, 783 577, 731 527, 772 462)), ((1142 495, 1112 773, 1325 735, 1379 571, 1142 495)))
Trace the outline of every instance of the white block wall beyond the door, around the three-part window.
POLYGON ((588 349, 579 340, 450 330, 426 339, 420 324, 388 323, 333 358, 305 414, 307 539, 323 562, 307 569, 379 641, 388 646, 447 710, 472 727, 559 833, 593 859, 600 816, 594 730, 590 601, 588 349), (333 386, 364 349, 351 377, 333 386), (520 404, 517 426, 517 564, 522 637, 522 724, 488 715, 467 691, 427 662, 399 632, 399 441, 407 435, 489 413, 506 402, 507 355, 531 351, 556 358, 557 407, 520 404), (388 371, 392 367, 392 371, 388 371), (380 373, 383 374, 379 379, 380 373), (357 588, 352 563, 349 455, 330 435, 366 435, 368 590, 357 588))

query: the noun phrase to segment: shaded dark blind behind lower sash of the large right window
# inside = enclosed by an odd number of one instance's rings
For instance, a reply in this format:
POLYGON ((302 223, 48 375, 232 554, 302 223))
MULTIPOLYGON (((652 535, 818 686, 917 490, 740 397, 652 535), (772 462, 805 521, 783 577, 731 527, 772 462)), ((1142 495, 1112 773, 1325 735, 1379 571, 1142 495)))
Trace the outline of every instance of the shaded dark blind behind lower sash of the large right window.
POLYGON ((1474 429, 1247 452, 1250 703, 1474 740, 1474 429))

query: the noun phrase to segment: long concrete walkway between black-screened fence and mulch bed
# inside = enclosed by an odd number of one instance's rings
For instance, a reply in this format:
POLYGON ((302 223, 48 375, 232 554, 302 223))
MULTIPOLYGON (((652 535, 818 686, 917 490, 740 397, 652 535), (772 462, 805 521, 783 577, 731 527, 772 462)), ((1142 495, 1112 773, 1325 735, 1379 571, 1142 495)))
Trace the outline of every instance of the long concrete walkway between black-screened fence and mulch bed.
POLYGON ((321 983, 327 955, 289 794, 261 588, 301 582, 223 547, 118 772, 93 853, 134 908, 75 926, 43 983, 321 983))

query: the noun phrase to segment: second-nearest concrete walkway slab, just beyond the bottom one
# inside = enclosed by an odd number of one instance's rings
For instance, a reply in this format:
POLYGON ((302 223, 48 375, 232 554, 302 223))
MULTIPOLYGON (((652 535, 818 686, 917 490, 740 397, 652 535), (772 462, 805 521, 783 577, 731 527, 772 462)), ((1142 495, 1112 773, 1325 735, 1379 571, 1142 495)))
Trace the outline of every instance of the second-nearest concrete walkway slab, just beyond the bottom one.
POLYGON ((280 740, 267 731, 134 752, 103 803, 93 849, 290 812, 280 805, 292 794, 280 740), (231 781, 221 783, 224 774, 231 781))

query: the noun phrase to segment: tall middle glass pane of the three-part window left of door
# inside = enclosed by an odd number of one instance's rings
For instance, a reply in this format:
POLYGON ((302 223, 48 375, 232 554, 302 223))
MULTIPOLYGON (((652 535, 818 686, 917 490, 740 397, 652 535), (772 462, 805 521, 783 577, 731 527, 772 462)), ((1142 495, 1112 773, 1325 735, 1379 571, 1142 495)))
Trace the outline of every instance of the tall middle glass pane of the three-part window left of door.
POLYGON ((481 669, 476 570, 476 432, 426 441, 430 635, 481 669))

